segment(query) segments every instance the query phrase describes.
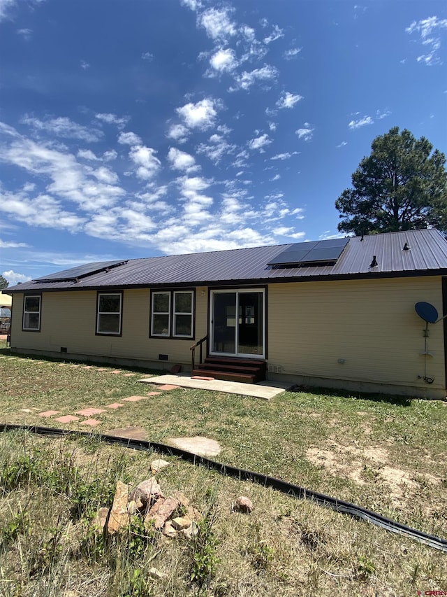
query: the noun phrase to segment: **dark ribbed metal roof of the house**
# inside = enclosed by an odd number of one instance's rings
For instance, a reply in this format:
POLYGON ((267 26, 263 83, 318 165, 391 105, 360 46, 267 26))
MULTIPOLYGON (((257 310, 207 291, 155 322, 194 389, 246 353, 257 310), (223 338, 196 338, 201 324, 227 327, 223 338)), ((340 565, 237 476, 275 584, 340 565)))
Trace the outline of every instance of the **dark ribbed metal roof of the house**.
MULTIPOLYGON (((251 281, 257 283, 447 274, 447 241, 434 229, 371 234, 363 238, 352 237, 335 265, 286 265, 276 269, 268 265, 292 246, 293 244, 261 246, 131 259, 109 271, 87 275, 78 281, 32 280, 8 288, 7 292, 131 286, 219 286, 251 281), (404 250, 405 246, 409 248, 404 250), (374 256, 378 265, 370 267, 374 256)), ((64 272, 64 275, 68 272, 64 272)))

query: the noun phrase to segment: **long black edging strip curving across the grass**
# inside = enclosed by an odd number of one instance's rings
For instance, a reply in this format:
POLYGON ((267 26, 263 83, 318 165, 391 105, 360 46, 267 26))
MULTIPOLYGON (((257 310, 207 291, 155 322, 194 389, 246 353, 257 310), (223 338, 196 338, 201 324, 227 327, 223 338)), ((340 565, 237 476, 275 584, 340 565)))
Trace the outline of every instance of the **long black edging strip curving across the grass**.
MULTIPOLYGON (((92 435, 91 433, 88 433, 86 431, 72 431, 66 429, 54 429, 49 427, 25 425, 0 425, 0 433, 2 431, 12 430, 25 430, 29 431, 30 433, 36 433, 38 435, 49 435, 51 437, 58 437, 61 435, 77 435, 80 437, 91 437, 92 435)), ((435 537, 434 535, 423 533, 423 531, 418 531, 415 528, 411 528, 409 526, 406 526, 405 524, 401 524, 400 522, 383 517, 381 516, 381 514, 376 514, 376 512, 371 512, 366 508, 356 506, 355 504, 345 502, 344 500, 337 500, 337 498, 325 496, 323 493, 311 491, 293 483, 281 481, 281 479, 275 479, 274 477, 268 477, 268 475, 262 475, 259 472, 253 472, 251 470, 244 470, 235 466, 221 464, 216 461, 210 460, 210 458, 205 458, 205 456, 198 456, 197 454, 192 454, 191 452, 188 452, 186 450, 166 446, 165 444, 159 444, 157 442, 146 442, 145 440, 131 440, 126 439, 125 437, 115 437, 114 435, 103 435, 101 433, 95 434, 95 437, 98 437, 99 440, 108 444, 117 444, 119 446, 131 448, 134 450, 154 450, 157 452, 161 452, 162 454, 168 454, 169 456, 177 456, 178 458, 182 458, 182 460, 188 461, 195 465, 198 464, 212 470, 217 470, 222 475, 228 475, 229 477, 235 477, 236 479, 242 479, 244 481, 256 482, 265 487, 272 487, 272 489, 277 489, 277 491, 286 493, 289 496, 294 496, 295 498, 300 498, 303 500, 311 500, 314 503, 317 503, 318 505, 329 507, 332 510, 335 510, 335 512, 349 514, 352 517, 365 520, 376 526, 380 526, 381 528, 385 529, 386 531, 390 531, 391 533, 400 533, 400 535, 406 535, 407 537, 411 537, 412 539, 416 539, 417 541, 425 543, 425 545, 434 547, 434 549, 439 549, 441 550, 441 552, 447 553, 446 539, 441 539, 439 537, 435 537)))

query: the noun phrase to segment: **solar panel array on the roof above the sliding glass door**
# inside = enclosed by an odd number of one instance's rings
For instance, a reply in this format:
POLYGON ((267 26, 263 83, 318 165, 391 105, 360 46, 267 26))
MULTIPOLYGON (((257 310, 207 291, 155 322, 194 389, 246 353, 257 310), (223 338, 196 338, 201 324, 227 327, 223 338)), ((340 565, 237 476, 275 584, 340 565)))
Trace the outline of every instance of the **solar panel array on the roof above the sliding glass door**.
POLYGON ((286 267, 288 265, 299 267, 300 265, 336 262, 348 243, 349 238, 294 243, 268 262, 268 265, 273 267, 286 267))

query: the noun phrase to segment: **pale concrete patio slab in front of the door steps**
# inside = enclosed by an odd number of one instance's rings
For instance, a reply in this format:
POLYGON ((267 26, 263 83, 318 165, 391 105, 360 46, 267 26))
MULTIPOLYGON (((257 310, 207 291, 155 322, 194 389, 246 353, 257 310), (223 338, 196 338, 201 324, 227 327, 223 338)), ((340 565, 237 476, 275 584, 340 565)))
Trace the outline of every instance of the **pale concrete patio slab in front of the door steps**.
POLYGON ((158 377, 146 377, 139 379, 143 384, 175 384, 182 388, 194 388, 196 390, 212 390, 214 392, 227 392, 229 394, 241 394, 252 396, 262 400, 271 400, 274 396, 288 390, 294 384, 284 381, 259 381, 258 384, 242 384, 240 381, 221 381, 213 379, 194 379, 186 374, 167 374, 158 377))

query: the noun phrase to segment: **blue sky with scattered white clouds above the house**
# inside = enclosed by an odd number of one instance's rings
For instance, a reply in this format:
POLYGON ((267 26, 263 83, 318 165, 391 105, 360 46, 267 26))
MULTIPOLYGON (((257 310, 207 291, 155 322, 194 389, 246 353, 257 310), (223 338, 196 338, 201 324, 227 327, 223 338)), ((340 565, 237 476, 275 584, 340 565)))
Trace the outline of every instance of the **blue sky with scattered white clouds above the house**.
POLYGON ((337 235, 393 126, 447 153, 438 0, 0 0, 0 272, 337 235))

